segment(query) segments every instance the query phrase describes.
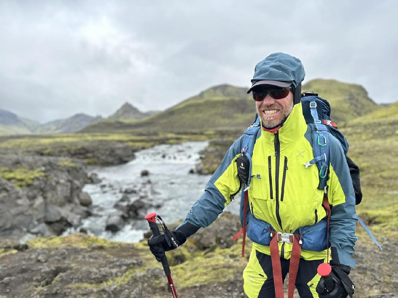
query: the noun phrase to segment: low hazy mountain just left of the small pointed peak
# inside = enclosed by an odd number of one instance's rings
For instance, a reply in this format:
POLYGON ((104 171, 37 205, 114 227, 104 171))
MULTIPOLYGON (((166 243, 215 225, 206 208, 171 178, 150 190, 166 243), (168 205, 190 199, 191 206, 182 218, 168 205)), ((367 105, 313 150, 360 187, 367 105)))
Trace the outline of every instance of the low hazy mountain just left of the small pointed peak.
POLYGON ((82 128, 102 120, 101 116, 92 117, 80 113, 66 119, 54 120, 43 124, 33 130, 33 132, 36 134, 78 132, 82 128))

